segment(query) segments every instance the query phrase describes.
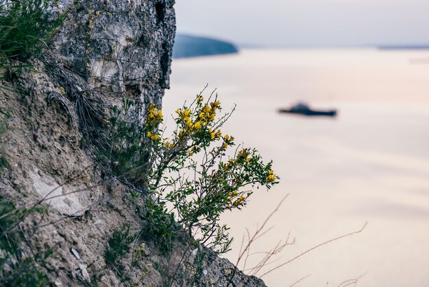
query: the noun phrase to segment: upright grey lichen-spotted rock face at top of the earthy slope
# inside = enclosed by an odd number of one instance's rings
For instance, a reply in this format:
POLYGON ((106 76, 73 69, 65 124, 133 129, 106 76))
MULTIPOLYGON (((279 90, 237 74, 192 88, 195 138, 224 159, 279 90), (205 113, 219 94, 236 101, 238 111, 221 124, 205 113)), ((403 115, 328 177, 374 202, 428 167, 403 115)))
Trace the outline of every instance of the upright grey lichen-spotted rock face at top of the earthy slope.
POLYGON ((108 102, 119 97, 160 106, 169 88, 175 36, 174 0, 70 1, 54 39, 58 62, 108 102))

